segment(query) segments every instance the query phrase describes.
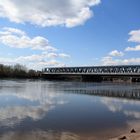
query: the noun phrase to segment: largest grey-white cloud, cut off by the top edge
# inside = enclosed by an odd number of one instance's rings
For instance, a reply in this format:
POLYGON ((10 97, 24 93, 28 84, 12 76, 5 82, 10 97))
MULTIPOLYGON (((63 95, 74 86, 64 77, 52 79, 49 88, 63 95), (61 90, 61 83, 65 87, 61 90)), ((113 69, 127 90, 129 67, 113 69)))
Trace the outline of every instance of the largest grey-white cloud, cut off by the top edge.
POLYGON ((0 17, 12 22, 39 26, 84 24, 93 15, 91 7, 100 0, 4 0, 0 1, 0 17))

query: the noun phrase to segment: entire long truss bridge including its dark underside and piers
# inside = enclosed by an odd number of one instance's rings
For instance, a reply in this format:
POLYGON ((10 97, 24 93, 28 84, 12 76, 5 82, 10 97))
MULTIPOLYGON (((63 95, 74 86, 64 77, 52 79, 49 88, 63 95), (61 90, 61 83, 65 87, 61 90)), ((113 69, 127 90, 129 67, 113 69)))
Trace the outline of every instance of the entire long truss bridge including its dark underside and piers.
POLYGON ((140 65, 53 67, 45 68, 43 77, 50 80, 140 82, 140 65))

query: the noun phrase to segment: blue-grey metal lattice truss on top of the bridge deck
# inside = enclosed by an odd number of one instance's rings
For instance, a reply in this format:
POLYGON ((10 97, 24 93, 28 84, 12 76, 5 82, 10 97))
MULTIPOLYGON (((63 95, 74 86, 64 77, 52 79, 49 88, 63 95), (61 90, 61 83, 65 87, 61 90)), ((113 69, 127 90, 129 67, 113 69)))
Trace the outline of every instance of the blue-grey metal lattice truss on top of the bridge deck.
POLYGON ((44 74, 140 75, 140 65, 45 68, 44 74))

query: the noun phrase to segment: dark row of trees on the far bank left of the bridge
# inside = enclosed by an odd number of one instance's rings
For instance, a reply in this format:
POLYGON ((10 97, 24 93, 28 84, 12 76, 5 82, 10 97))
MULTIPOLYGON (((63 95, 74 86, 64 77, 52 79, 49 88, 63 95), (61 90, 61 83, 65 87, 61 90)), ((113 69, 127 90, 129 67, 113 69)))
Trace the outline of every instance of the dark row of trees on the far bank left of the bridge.
POLYGON ((41 71, 27 69, 26 66, 16 64, 13 66, 0 64, 1 78, 40 78, 41 71))

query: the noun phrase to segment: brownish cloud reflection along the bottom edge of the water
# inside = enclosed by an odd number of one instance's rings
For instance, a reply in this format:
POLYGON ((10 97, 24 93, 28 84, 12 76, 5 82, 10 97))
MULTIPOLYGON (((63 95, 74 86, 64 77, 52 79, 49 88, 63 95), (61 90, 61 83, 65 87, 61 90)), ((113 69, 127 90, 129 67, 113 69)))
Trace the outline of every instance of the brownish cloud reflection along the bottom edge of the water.
POLYGON ((80 137, 70 132, 32 131, 9 132, 0 137, 1 140, 80 140, 80 137))

